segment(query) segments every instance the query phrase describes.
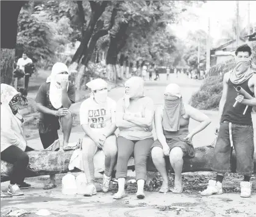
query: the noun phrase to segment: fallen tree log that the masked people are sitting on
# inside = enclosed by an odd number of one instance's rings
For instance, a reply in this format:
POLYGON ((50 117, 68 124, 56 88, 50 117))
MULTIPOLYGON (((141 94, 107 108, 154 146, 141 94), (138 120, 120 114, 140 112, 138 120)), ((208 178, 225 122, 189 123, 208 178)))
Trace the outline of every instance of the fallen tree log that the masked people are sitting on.
MULTIPOLYGON (((193 171, 212 171, 211 162, 214 152, 213 146, 202 146, 195 148, 196 155, 193 158, 184 157, 184 164, 182 172, 193 171)), ((69 160, 73 151, 55 152, 55 151, 30 151, 29 165, 26 171, 26 177, 42 176, 47 174, 67 173, 69 160)), ((98 172, 104 171, 104 153, 98 151, 94 156, 94 167, 98 172)), ((168 170, 173 173, 173 169, 166 159, 168 170)), ((1 160, 1 182, 8 181, 10 173, 12 173, 12 164, 1 160)), ((134 169, 134 160, 131 157, 128 163, 129 169, 134 169)), ((147 170, 156 172, 151 159, 148 160, 147 170)), ((236 170, 236 157, 235 153, 232 155, 232 173, 236 170)), ((78 170, 80 171, 80 170, 78 170)), ((254 153, 254 174, 256 173, 256 153, 254 153)))

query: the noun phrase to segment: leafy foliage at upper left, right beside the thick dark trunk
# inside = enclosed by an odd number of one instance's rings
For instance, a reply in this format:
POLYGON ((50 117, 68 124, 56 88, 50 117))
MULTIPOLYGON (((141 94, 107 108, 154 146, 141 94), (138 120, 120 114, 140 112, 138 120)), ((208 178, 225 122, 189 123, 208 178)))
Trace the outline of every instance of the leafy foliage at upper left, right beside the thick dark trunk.
POLYGON ((65 6, 58 1, 30 1, 23 7, 18 18, 16 59, 26 51, 37 67, 43 68, 59 60, 55 53, 63 52, 74 33, 66 16, 73 7, 67 10, 65 6))

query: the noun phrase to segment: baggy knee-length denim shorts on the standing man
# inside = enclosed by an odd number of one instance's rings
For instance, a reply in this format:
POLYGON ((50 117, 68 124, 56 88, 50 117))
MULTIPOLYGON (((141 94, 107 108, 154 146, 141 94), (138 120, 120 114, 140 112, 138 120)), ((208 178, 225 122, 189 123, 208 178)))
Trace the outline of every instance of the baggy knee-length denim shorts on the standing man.
POLYGON ((249 175, 254 173, 254 128, 249 125, 232 123, 232 140, 235 148, 236 164, 232 163, 233 147, 230 145, 229 122, 221 123, 215 145, 212 170, 219 173, 236 171, 249 175))

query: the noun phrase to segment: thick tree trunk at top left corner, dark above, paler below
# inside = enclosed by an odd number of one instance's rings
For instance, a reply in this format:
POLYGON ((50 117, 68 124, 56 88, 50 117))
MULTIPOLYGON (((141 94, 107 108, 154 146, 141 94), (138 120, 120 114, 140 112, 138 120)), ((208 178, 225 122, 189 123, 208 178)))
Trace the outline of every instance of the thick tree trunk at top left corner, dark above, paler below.
POLYGON ((26 1, 1 1, 1 83, 12 85, 18 16, 26 1))

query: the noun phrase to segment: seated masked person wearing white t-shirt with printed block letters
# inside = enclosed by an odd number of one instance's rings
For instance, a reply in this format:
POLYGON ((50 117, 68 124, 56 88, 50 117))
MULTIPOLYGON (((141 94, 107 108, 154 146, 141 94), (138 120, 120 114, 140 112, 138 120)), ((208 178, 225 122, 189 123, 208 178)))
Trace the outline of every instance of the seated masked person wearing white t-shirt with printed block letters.
POLYGON ((80 125, 85 132, 82 142, 82 156, 84 162, 87 187, 84 196, 96 195, 94 185, 93 157, 98 150, 105 154, 105 173, 103 175, 102 190, 107 192, 112 178, 112 171, 116 164, 116 102, 107 97, 107 82, 101 78, 86 84, 91 89, 91 97, 80 106, 80 125))

